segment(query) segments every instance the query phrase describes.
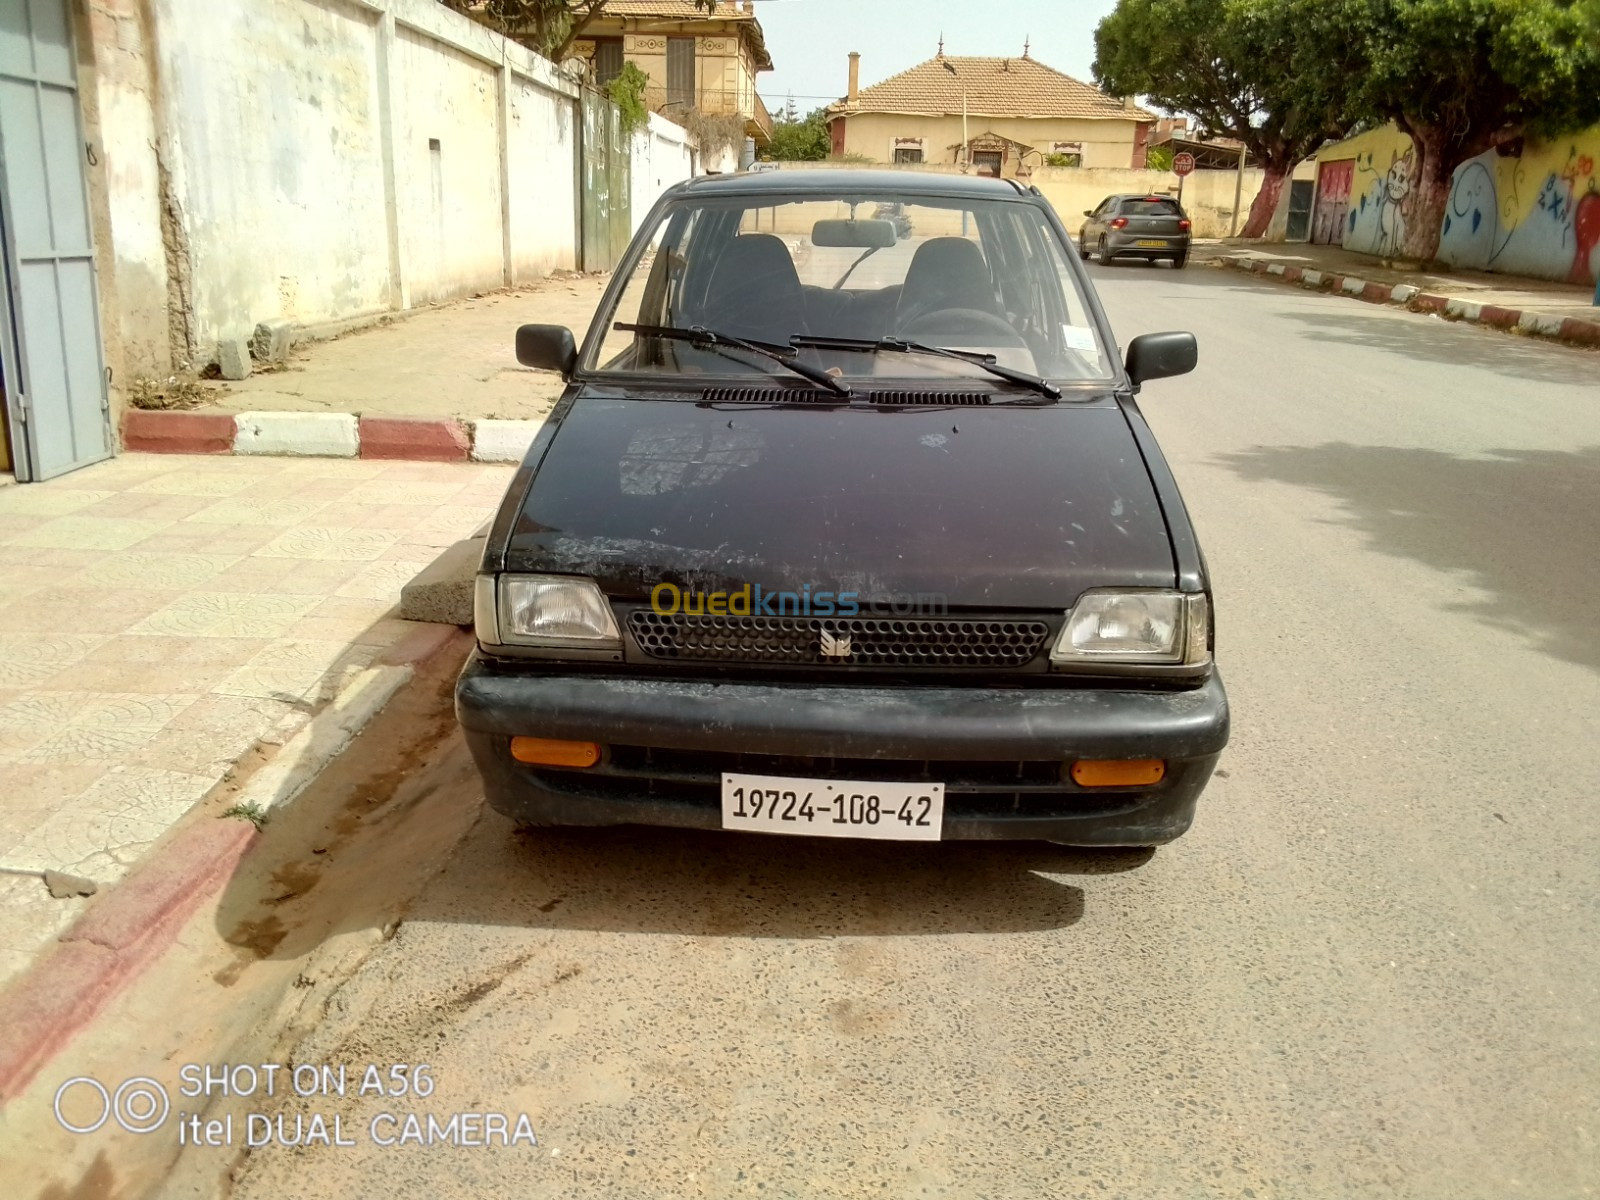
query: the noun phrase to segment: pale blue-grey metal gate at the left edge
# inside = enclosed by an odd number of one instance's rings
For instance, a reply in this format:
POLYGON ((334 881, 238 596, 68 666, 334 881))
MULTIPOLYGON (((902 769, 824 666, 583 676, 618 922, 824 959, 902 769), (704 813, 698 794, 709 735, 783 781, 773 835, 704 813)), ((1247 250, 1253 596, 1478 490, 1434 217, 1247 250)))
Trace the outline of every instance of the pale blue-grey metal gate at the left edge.
POLYGON ((0 378, 21 480, 112 454, 67 0, 0 3, 0 378))

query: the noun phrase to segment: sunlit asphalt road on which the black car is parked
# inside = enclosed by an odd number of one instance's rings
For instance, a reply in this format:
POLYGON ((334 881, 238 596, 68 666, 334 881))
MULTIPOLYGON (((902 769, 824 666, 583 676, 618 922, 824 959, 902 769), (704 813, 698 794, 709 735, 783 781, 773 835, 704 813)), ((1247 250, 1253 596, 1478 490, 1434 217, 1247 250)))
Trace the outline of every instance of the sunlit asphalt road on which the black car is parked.
POLYGON ((526 1112, 539 1146, 258 1150, 235 1197, 1595 1194, 1600 357, 1093 274, 1123 341, 1200 336, 1144 405, 1234 699, 1190 835, 485 814, 298 1054, 437 1091, 302 1110, 526 1112))

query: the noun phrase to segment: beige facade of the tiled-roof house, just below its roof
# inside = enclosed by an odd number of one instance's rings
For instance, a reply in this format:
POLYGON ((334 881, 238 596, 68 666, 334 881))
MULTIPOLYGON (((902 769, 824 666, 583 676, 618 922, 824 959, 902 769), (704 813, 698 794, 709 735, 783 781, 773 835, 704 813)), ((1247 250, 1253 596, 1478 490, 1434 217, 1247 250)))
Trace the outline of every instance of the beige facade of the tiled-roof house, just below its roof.
MULTIPOLYGON (((918 117, 894 112, 859 112, 842 118, 845 125, 845 154, 866 155, 875 163, 894 162, 896 138, 922 138, 923 162, 955 163, 954 147, 962 144, 962 115, 918 117)), ((1024 117, 966 118, 966 136, 981 138, 994 133, 1022 146, 1048 154, 1051 142, 1080 142, 1083 166, 1133 166, 1134 134, 1138 122, 1128 120, 1042 120, 1024 117)), ((1038 166, 1040 157, 1029 155, 1029 165, 1038 166)), ((1014 158, 1005 163, 1006 176, 1016 174, 1014 158)))

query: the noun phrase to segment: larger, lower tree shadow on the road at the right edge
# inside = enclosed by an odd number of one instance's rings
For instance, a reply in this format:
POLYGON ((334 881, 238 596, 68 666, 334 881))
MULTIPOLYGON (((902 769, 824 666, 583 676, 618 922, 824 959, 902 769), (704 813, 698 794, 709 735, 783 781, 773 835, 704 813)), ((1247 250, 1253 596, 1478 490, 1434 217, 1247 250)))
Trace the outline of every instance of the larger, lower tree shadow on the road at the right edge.
POLYGON ((1218 461, 1246 480, 1333 496, 1373 549, 1464 573, 1488 594, 1456 611, 1600 670, 1600 446, 1464 458, 1333 442, 1218 461))

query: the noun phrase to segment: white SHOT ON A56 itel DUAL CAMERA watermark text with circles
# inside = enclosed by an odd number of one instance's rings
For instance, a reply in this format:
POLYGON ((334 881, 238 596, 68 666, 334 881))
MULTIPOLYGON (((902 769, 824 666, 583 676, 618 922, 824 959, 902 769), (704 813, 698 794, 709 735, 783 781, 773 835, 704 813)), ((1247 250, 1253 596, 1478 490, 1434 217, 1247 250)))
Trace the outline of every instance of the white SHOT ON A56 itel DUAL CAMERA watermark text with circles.
POLYGON ((74 1075, 56 1088, 56 1120, 69 1133, 163 1133, 179 1146, 538 1146, 525 1112, 438 1110, 426 1062, 189 1062, 168 1086, 149 1075, 102 1083, 74 1075), (174 1099, 176 1098, 176 1099, 174 1099), (221 1101, 238 1101, 227 1107, 221 1101), (336 1112, 341 1101, 378 1112, 336 1112), (298 1104, 296 1104, 298 1102, 298 1104), (286 1106, 294 1110, 285 1110, 286 1106))

